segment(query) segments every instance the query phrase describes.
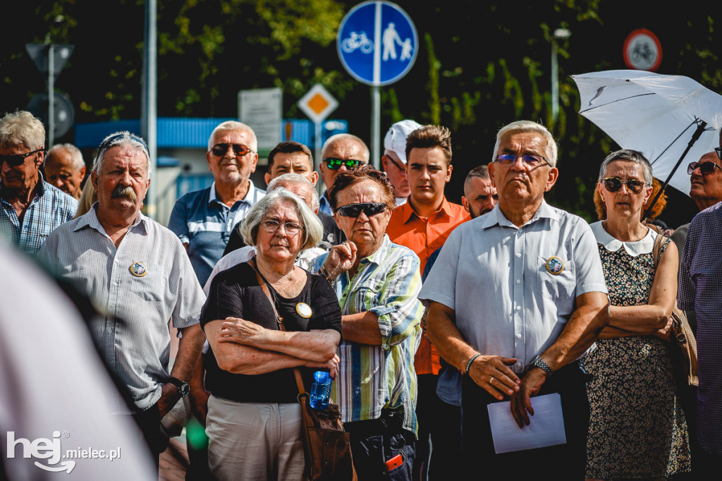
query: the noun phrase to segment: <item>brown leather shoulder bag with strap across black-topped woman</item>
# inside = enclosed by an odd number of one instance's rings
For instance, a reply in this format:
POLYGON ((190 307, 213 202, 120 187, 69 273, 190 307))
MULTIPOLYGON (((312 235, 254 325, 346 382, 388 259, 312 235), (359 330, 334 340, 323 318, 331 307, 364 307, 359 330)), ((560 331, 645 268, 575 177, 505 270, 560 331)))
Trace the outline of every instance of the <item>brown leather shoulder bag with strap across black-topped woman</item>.
MULTIPOLYGON (((264 290, 266 297, 273 307, 279 328, 286 330, 283 318, 279 316, 269 288, 261 273, 258 272, 253 261, 251 267, 256 270, 258 285, 264 290)), ((310 481, 349 480, 357 481, 356 470, 351 456, 351 438, 344 431, 341 423, 341 410, 338 405, 331 404, 325 410, 314 410, 310 406, 309 395, 303 389, 301 371, 293 370, 298 387, 298 402, 301 404, 301 418, 303 420, 303 455, 305 457, 305 479, 310 481)))

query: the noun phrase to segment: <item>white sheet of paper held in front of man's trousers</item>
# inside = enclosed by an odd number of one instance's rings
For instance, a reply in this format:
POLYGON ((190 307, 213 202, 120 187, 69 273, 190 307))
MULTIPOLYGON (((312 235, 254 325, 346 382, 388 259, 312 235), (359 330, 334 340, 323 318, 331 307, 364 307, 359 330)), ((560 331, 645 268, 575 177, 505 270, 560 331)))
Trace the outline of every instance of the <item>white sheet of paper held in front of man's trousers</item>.
POLYGON ((487 405, 494 450, 497 454, 567 442, 562 417, 562 397, 559 394, 532 397, 534 416, 529 416, 529 425, 523 428, 519 428, 511 415, 510 404, 506 401, 487 405))

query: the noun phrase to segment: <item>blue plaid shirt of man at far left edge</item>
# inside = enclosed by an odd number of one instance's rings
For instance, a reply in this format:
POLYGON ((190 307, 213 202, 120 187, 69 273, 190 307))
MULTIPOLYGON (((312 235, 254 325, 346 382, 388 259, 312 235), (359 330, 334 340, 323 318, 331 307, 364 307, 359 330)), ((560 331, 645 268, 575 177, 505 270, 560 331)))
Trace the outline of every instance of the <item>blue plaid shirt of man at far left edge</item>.
POLYGON ((35 196, 25 210, 22 224, 12 204, 5 200, 5 186, 0 181, 0 233, 22 251, 35 256, 58 225, 71 220, 78 209, 73 197, 45 182, 40 174, 35 196))

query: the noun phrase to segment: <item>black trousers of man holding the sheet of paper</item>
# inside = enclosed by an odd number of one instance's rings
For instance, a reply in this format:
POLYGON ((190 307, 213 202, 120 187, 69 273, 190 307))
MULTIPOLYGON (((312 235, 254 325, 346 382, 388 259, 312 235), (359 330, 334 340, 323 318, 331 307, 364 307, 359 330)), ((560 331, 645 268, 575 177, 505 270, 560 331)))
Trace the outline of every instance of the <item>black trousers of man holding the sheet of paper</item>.
MULTIPOLYGON (((464 376, 461 394, 462 452, 469 479, 488 475, 490 467, 503 467, 505 479, 537 479, 544 472, 554 473, 557 480, 583 480, 586 468, 586 438, 589 425, 589 403, 586 395, 588 375, 578 363, 554 372, 542 386, 539 395, 559 393, 562 399, 567 443, 541 449, 495 454, 487 404, 498 402, 486 390, 464 376)), ((508 399, 505 399, 508 400, 508 399)), ((529 420, 534 423, 534 417, 529 420)), ((496 469, 496 468, 495 468, 496 469)))

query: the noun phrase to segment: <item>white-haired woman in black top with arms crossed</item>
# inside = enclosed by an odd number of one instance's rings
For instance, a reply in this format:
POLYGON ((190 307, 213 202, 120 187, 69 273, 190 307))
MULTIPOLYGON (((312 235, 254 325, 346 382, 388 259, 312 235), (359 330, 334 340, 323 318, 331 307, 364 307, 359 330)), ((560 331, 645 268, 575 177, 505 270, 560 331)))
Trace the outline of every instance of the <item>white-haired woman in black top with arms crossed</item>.
POLYGON ((201 314, 211 346, 209 469, 219 480, 301 480, 294 368, 301 368, 304 389, 310 391, 313 371, 336 375, 341 342, 334 290, 323 277, 294 265, 300 251, 318 244, 323 228, 303 200, 277 188, 248 212, 241 234, 256 247, 256 256, 217 274, 201 314))

